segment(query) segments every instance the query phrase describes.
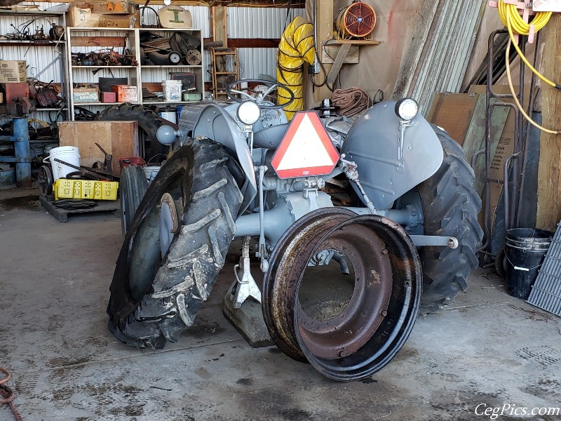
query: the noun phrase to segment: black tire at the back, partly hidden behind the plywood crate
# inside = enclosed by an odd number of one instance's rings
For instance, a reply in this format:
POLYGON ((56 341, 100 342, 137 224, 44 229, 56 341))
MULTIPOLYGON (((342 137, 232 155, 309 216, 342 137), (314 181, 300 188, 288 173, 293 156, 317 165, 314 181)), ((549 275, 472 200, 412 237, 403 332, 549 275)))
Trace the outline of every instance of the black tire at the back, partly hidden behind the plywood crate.
MULTIPOLYGON (((163 125, 158 114, 144 105, 120 104, 113 105, 103 112, 97 114, 95 119, 98 121, 137 121, 138 126, 146 133, 149 142, 146 143, 144 158, 146 161, 161 162, 165 159, 168 146, 158 142, 156 132, 163 125)), ((116 157, 119 159, 119 156, 116 157)))

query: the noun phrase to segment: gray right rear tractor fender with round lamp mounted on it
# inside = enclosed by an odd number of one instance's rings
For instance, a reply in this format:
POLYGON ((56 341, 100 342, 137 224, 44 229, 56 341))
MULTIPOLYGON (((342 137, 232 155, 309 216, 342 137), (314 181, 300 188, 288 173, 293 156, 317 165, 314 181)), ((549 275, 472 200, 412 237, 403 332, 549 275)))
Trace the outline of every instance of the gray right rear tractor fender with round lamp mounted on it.
MULTIPOLYGON (((417 114, 405 128, 400 147, 396 102, 373 105, 353 124, 344 142, 345 159, 357 164, 360 185, 379 210, 438 171, 443 153, 431 124, 417 114), (399 149, 401 149, 401 157, 399 149)), ((351 183, 362 197, 355 183, 351 183)))

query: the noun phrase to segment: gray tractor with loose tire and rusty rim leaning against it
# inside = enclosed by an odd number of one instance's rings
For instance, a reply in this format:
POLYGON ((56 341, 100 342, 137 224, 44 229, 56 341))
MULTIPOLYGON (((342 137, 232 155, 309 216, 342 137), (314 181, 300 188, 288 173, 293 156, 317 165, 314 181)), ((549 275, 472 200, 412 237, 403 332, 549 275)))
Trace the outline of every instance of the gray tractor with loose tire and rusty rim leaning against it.
MULTIPOLYGON (((324 107, 289 123, 267 100, 279 84, 249 82, 268 88, 250 94, 236 81, 233 102, 186 106, 178 128, 158 128, 173 154, 149 187, 141 168, 125 168, 109 329, 135 347, 176 342, 237 238, 234 307, 260 302, 276 345, 327 377, 368 377, 403 347, 421 304, 446 305, 468 287, 482 240, 473 171, 411 98, 356 120, 324 107), (334 206, 326 182, 347 188, 351 201, 334 206), (305 274, 327 267, 351 279, 351 290, 316 317, 306 302, 323 300, 325 288, 307 288, 305 274)), ((323 273, 316 277, 330 278, 323 273)))

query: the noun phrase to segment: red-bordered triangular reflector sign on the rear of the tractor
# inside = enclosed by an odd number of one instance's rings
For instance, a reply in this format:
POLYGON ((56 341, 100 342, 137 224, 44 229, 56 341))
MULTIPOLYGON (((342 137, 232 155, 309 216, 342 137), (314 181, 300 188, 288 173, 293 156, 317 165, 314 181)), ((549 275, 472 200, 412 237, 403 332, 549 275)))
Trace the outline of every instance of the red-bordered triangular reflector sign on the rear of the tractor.
POLYGON ((273 166, 279 178, 327 175, 339 161, 317 112, 297 112, 283 140, 273 155, 273 166))

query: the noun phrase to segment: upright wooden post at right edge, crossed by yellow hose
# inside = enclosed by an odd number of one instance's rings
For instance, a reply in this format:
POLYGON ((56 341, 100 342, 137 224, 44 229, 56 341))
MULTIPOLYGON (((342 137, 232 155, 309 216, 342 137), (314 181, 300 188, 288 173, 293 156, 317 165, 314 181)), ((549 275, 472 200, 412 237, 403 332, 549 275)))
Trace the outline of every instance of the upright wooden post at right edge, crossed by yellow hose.
MULTIPOLYGON (((561 13, 542 29, 543 75, 561 83, 561 13)), ((561 92, 541 83, 543 127, 561 130, 561 92)), ((561 219, 561 135, 541 133, 536 227, 555 231, 561 219)))

